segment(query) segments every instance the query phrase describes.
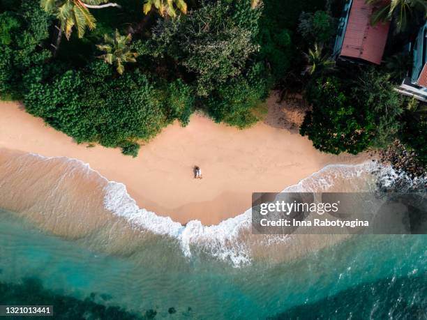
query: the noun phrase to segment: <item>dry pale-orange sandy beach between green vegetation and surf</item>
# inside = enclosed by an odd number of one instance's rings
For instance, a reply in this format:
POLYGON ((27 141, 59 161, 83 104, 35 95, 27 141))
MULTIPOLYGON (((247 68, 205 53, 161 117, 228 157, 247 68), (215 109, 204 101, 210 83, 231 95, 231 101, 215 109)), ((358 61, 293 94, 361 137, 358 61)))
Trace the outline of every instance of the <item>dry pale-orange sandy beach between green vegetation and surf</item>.
POLYGON ((301 112, 277 100, 271 96, 266 119, 246 130, 194 114, 186 128, 179 123, 165 128, 141 147, 137 158, 119 149, 76 144, 24 112, 20 103, 0 102, 0 148, 77 158, 109 180, 124 183, 141 208, 181 223, 218 224, 248 209, 252 192, 278 192, 325 165, 366 160, 366 155, 315 150, 297 131, 301 112), (193 178, 195 165, 201 167, 202 179, 193 178))

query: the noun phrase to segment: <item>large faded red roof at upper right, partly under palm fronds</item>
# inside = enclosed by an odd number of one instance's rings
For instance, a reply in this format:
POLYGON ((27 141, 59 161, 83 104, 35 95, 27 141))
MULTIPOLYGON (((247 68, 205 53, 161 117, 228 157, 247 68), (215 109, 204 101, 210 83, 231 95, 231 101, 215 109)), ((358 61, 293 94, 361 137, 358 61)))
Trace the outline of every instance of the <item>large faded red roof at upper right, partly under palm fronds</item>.
POLYGON ((353 0, 340 55, 380 64, 390 23, 372 26, 370 16, 374 7, 365 1, 353 0))

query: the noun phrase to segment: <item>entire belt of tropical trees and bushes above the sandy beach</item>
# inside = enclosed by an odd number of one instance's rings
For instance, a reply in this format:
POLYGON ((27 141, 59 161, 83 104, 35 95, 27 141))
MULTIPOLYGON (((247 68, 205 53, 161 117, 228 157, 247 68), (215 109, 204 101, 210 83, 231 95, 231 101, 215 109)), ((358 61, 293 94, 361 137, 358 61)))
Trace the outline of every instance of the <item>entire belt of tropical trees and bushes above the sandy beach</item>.
MULTIPOLYGON (((404 30, 426 18, 425 1, 368 2, 379 7, 373 23, 404 30)), ((335 66, 342 9, 340 0, 1 0, 0 97, 23 100, 77 143, 136 156, 196 110, 247 128, 280 89, 310 103, 301 135, 324 152, 398 138, 425 160, 424 107, 393 90, 408 56, 391 49, 381 68, 335 66)))

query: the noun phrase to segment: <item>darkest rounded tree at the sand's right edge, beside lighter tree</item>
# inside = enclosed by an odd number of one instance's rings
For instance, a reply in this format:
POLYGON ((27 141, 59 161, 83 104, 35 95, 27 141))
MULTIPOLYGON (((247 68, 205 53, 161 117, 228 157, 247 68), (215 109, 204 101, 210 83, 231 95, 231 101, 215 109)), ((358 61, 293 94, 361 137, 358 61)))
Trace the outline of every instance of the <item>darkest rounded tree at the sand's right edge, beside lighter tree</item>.
POLYGON ((308 136, 315 148, 327 153, 356 154, 370 146, 373 114, 368 108, 361 110, 352 104, 338 78, 317 79, 308 100, 313 111, 306 114, 300 133, 308 136))

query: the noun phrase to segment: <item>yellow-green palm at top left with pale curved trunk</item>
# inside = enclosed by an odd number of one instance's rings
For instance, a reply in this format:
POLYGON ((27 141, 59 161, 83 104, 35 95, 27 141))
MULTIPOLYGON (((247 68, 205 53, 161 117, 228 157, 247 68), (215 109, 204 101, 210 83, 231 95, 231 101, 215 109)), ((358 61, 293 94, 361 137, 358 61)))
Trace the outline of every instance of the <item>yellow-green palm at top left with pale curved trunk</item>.
POLYGON ((84 36, 87 28, 92 30, 96 27, 95 17, 90 13, 91 9, 107 7, 119 7, 117 3, 107 3, 108 0, 41 0, 41 6, 47 13, 54 14, 59 20, 57 27, 57 45, 61 41, 62 32, 67 39, 70 38, 73 27, 77 28, 79 38, 84 36), (105 4, 101 4, 105 3, 105 4))

